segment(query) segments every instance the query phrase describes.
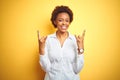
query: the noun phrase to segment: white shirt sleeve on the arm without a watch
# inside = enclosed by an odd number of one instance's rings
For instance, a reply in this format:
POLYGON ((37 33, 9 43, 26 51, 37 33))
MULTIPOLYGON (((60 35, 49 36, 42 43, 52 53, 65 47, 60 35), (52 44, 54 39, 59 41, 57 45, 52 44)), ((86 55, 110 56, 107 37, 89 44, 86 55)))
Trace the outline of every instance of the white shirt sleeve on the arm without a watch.
POLYGON ((51 63, 48 57, 48 44, 47 43, 45 45, 44 55, 40 55, 39 63, 45 72, 49 72, 51 70, 51 63))

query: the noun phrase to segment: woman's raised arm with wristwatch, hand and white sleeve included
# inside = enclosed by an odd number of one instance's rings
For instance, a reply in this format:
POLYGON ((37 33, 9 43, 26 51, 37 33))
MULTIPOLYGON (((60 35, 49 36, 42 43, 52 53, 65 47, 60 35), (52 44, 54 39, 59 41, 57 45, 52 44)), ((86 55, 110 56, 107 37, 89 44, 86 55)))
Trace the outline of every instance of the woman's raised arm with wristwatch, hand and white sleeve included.
POLYGON ((76 59, 75 59, 75 62, 73 63, 73 69, 74 69, 74 72, 76 74, 78 74, 81 69, 83 68, 83 65, 84 65, 84 56, 83 56, 83 53, 84 53, 84 36, 85 36, 85 30, 84 32, 82 33, 82 36, 75 36, 76 37, 76 43, 77 43, 77 50, 76 50, 76 59), (80 50, 83 50, 83 51, 80 51, 80 50))

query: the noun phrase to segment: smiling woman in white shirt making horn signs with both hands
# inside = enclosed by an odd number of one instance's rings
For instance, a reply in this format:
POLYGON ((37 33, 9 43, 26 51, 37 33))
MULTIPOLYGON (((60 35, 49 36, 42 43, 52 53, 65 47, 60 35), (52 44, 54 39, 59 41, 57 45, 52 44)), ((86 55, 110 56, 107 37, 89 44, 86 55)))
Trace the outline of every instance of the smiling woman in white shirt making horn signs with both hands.
POLYGON ((68 6, 57 6, 51 16, 56 32, 40 37, 38 31, 40 65, 46 72, 44 80, 80 80, 85 31, 82 36, 70 34, 67 30, 72 20, 68 6))

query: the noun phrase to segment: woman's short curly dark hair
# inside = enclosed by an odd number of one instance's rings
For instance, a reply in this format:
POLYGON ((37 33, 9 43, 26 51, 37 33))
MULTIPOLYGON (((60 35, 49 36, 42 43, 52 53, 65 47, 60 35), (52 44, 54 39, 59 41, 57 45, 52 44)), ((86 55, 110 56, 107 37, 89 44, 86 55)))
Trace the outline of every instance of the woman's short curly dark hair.
POLYGON ((55 28, 57 26, 54 24, 54 21, 56 20, 58 14, 62 13, 62 12, 65 12, 65 13, 67 13, 69 15, 70 23, 73 21, 73 12, 68 6, 63 6, 63 5, 56 6, 55 9, 52 12, 52 15, 51 15, 51 21, 52 21, 52 24, 54 25, 55 28))

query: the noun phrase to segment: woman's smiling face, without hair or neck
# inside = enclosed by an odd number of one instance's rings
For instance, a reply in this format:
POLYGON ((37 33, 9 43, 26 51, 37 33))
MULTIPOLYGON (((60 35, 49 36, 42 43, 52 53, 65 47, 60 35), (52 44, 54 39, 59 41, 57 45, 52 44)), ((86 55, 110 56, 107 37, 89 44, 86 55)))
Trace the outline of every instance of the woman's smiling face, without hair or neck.
POLYGON ((59 13, 54 23, 57 26, 58 31, 64 33, 67 31, 70 25, 70 17, 65 12, 59 13))

